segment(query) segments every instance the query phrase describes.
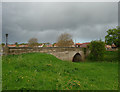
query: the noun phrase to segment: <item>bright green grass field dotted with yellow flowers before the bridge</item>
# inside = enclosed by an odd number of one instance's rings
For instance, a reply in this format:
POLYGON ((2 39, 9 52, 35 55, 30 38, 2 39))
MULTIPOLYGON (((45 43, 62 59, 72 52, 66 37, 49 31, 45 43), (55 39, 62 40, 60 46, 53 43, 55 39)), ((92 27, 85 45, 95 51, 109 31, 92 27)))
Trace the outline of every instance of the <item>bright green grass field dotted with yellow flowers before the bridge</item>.
MULTIPOLYGON (((62 61, 44 53, 3 56, 3 90, 117 90, 116 52, 107 52, 112 62, 62 61)), ((108 57, 108 58, 107 58, 108 57)))

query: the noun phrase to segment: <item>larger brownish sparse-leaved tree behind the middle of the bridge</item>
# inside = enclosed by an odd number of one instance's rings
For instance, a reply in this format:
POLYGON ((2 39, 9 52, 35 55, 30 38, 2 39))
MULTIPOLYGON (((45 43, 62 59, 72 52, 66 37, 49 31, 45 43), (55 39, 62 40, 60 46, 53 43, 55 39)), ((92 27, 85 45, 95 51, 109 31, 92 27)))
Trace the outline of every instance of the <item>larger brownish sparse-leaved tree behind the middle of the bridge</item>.
POLYGON ((68 33, 63 33, 58 37, 57 46, 58 47, 71 47, 74 45, 72 36, 68 33))

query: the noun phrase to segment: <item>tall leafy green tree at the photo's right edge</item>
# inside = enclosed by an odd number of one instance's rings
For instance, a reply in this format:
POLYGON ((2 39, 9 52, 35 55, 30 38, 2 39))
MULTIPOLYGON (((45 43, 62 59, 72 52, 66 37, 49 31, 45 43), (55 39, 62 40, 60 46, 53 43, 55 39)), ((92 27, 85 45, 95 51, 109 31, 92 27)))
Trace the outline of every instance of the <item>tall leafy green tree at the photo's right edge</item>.
POLYGON ((107 35, 105 36, 105 43, 108 44, 108 45, 112 45, 112 44, 115 44, 117 47, 119 45, 119 33, 120 32, 120 28, 117 27, 117 28, 114 28, 114 29, 109 29, 107 31, 107 35))

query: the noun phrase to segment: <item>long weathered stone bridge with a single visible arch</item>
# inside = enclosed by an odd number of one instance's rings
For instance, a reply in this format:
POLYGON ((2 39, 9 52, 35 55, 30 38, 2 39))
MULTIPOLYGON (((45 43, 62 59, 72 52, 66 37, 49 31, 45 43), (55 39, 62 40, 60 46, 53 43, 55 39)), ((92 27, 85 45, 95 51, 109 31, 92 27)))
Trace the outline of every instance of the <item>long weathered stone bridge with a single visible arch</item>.
POLYGON ((3 48, 3 54, 17 55, 22 53, 40 52, 52 54, 65 61, 84 61, 89 50, 80 47, 7 47, 3 48))

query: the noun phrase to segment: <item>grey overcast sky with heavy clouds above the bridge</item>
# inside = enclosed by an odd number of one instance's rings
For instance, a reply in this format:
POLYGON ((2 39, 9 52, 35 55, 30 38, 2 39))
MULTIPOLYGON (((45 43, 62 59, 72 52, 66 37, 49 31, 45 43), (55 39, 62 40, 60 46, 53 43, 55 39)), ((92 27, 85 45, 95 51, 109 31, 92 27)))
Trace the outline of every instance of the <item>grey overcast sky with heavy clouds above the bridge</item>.
POLYGON ((2 40, 27 42, 57 41, 61 33, 70 33, 75 42, 104 40, 106 31, 118 25, 117 2, 23 2, 2 4, 2 40))

